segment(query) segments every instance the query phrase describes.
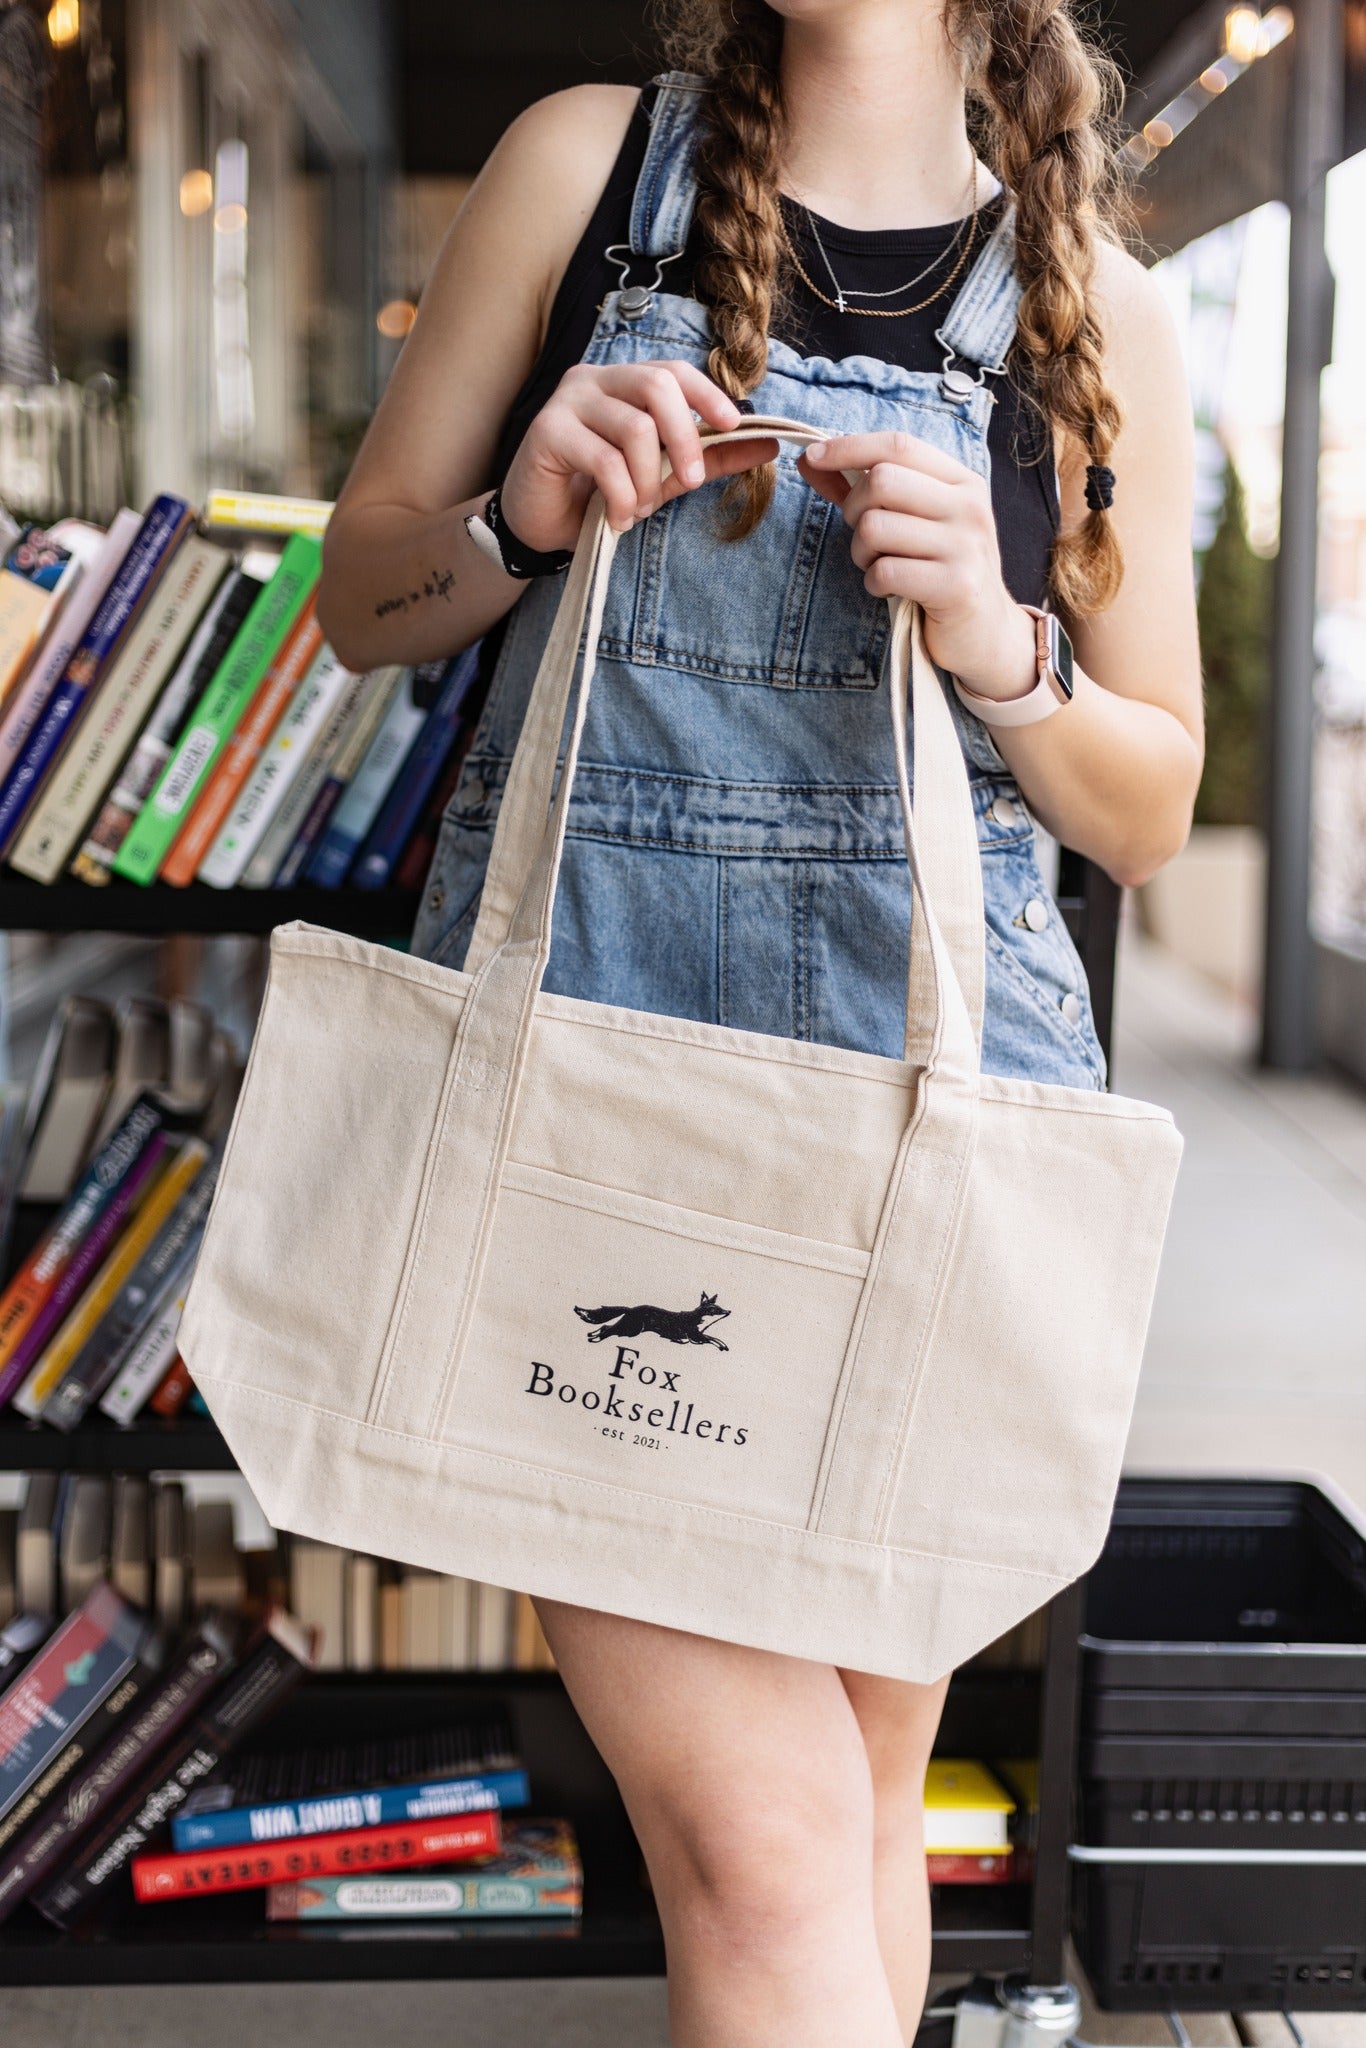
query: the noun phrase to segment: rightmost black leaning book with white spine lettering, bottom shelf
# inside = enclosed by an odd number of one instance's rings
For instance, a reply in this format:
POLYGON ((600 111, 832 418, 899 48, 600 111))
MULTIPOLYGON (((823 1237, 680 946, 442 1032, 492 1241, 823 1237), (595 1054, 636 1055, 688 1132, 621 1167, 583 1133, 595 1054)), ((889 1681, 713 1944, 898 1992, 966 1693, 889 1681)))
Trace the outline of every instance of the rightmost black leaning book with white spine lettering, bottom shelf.
POLYGON ((33 1894, 55 1927, 72 1927, 127 1872, 135 1855, 252 1729, 274 1714, 311 1665, 303 1628, 272 1614, 188 1729, 162 1747, 147 1772, 86 1835, 72 1860, 33 1894))

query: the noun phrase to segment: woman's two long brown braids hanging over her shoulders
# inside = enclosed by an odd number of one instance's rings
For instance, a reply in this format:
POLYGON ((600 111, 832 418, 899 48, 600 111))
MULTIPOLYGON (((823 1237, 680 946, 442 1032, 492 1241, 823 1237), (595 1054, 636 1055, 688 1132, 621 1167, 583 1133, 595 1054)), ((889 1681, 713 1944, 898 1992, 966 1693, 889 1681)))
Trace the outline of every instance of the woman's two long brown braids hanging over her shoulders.
MULTIPOLYGON (((659 0, 659 8, 672 61, 711 82, 696 166, 709 244, 698 293, 715 330, 709 371, 743 397, 764 377, 782 285, 782 18, 764 0, 659 0)), ((1120 408, 1104 377, 1092 285, 1096 242, 1118 240, 1122 215, 1108 145, 1118 70, 1081 37, 1073 0, 944 0, 944 25, 963 55, 981 154, 1016 201, 1022 381, 1087 463, 1106 463, 1120 408)), ((770 469, 727 485, 731 539, 754 530, 770 496, 770 469)), ((1122 567, 1112 522, 1087 512, 1055 543, 1053 594, 1073 614, 1104 610, 1122 567)))

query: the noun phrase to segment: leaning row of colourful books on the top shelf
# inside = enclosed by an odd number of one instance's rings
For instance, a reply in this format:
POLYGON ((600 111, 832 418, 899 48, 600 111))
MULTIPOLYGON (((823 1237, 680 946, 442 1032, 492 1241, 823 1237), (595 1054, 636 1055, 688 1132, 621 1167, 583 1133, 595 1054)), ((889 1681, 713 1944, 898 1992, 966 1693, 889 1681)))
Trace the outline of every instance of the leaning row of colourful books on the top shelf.
POLYGON ((96 889, 418 889, 477 647, 352 674, 317 625, 315 535, 262 559, 201 524, 162 494, 109 532, 68 520, 8 549, 0 860, 96 889))

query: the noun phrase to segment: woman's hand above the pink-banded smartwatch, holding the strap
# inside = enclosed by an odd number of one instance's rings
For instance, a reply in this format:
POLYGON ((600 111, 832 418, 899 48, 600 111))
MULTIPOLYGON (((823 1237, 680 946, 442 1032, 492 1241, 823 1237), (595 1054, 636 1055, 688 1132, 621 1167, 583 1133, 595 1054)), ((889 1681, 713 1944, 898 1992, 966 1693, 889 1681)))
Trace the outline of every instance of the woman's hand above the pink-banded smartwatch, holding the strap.
POLYGON ((913 598, 926 647, 979 696, 1032 688, 1034 621, 1006 590, 991 485, 913 434, 836 434, 797 465, 854 528, 852 555, 874 598, 913 598), (862 471, 856 483, 846 469, 862 471))

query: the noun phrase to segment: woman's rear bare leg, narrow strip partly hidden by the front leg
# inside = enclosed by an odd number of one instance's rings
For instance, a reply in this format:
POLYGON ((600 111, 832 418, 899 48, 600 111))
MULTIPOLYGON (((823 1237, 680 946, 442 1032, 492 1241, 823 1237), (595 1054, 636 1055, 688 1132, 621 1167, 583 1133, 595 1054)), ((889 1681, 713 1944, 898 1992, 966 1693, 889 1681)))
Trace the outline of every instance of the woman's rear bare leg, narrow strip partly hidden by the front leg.
POLYGON ((926 1763, 944 1710, 948 1677, 911 1686, 870 1671, 844 1671, 872 1769, 872 1915, 883 1968, 909 2044, 930 1978, 930 1886, 926 1882, 926 1763))

